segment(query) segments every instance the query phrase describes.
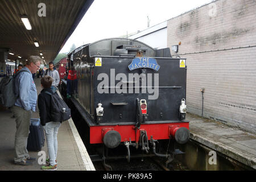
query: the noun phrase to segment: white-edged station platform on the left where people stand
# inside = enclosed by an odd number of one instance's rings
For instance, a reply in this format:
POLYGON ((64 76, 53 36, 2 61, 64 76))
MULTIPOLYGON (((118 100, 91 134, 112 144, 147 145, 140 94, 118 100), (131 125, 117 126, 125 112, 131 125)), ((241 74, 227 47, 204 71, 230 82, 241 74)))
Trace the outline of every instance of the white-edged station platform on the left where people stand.
MULTIPOLYGON (((40 78, 35 78, 38 94, 41 92, 40 78)), ((38 152, 28 151, 28 154, 36 158, 32 166, 20 166, 14 164, 14 138, 16 132, 15 118, 10 109, 0 110, 0 171, 42 171, 38 163, 38 152)), ((39 110, 32 113, 32 118, 39 118, 39 110)), ((89 154, 76 129, 72 119, 61 124, 57 135, 57 169, 59 171, 95 171, 89 154)), ((47 143, 44 142, 42 151, 47 153, 47 143)))

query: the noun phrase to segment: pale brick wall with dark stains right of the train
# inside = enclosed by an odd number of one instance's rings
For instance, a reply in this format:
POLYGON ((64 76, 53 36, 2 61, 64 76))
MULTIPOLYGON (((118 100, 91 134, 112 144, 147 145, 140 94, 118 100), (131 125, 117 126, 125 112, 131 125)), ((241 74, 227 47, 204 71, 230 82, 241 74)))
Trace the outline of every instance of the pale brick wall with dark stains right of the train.
POLYGON ((256 1, 219 0, 167 22, 167 46, 187 59, 187 106, 256 133, 256 1))

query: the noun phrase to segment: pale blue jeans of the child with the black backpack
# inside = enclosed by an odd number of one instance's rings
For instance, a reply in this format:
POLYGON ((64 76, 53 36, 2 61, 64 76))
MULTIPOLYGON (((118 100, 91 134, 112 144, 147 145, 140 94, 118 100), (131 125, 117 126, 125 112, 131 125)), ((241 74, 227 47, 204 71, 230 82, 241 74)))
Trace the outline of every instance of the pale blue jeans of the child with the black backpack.
POLYGON ((46 142, 48 147, 49 162, 51 166, 55 166, 58 150, 57 134, 60 127, 60 122, 48 122, 43 126, 46 131, 46 142))

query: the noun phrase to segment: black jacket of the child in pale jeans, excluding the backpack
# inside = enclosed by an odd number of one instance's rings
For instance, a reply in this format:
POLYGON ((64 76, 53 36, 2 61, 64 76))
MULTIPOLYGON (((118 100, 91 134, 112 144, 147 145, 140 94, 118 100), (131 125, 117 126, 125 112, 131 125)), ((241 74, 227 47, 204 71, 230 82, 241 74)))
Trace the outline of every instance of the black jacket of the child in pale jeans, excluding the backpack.
POLYGON ((46 88, 41 91, 38 96, 38 109, 40 115, 41 125, 45 126, 46 123, 51 122, 50 106, 51 106, 51 95, 46 92, 52 93, 51 88, 46 88))

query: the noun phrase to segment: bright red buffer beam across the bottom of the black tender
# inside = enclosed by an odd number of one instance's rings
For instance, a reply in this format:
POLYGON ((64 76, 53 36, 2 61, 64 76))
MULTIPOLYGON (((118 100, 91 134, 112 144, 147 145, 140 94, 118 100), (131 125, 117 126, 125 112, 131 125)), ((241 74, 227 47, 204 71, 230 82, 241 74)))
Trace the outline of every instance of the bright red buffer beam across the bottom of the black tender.
POLYGON ((115 125, 115 126, 91 126, 90 127, 90 143, 103 143, 102 130, 115 130, 121 135, 121 142, 138 140, 139 130, 146 130, 148 140, 151 135, 155 140, 169 139, 170 126, 186 127, 189 129, 189 122, 177 123, 160 123, 160 124, 142 124, 140 129, 137 129, 137 139, 135 137, 135 125, 115 125))

